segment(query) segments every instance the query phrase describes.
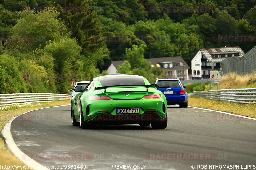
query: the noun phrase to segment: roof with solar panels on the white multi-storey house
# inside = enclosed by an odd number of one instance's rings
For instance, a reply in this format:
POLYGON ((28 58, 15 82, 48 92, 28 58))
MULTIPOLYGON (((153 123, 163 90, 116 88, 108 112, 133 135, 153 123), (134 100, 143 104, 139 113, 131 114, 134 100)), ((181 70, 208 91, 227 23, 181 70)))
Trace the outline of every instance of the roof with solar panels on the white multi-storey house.
POLYGON ((204 48, 200 49, 202 54, 206 57, 206 59, 210 62, 220 62, 225 58, 214 58, 214 54, 230 54, 230 53, 239 53, 239 56, 244 55, 244 51, 239 47, 219 47, 219 48, 204 48))

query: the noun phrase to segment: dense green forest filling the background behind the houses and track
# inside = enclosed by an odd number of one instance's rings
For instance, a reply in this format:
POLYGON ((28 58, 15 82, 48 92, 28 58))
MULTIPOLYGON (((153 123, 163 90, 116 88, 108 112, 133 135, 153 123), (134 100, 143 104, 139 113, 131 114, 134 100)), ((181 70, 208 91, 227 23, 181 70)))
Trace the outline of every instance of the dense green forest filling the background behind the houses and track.
POLYGON ((247 52, 255 16, 256 0, 0 0, 0 93, 67 93, 72 78, 105 75, 115 60, 127 60, 119 73, 151 80, 161 70, 144 58, 247 52))

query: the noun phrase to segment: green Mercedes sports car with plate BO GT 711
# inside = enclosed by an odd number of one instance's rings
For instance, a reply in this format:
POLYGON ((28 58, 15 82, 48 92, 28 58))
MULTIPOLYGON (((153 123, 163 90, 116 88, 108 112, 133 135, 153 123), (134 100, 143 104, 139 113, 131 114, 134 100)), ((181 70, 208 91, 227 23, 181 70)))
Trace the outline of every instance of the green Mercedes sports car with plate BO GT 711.
POLYGON ((71 118, 82 129, 95 125, 139 124, 154 129, 167 127, 167 103, 157 85, 137 75, 93 78, 72 97, 71 118), (80 123, 79 123, 80 122, 80 123))

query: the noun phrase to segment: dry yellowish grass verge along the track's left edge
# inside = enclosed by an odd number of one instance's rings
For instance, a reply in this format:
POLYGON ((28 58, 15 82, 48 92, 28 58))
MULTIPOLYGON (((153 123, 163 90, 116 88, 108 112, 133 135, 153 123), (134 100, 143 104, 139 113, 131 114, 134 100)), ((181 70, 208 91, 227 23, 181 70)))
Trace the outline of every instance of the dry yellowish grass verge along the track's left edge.
MULTIPOLYGON (((35 110, 35 109, 44 108, 44 107, 67 105, 69 103, 70 101, 53 101, 53 102, 40 102, 40 103, 27 103, 27 104, 0 106, 0 130, 2 130, 4 125, 12 117, 19 115, 21 113, 25 113, 30 110, 35 110)), ((2 166, 4 165, 11 166, 11 167, 12 165, 25 166, 22 162, 20 162, 19 159, 17 159, 14 155, 12 155, 12 153, 8 150, 2 137, 0 137, 0 158, 1 158, 0 165, 2 166)), ((23 170, 23 169, 19 168, 19 170, 23 170)))

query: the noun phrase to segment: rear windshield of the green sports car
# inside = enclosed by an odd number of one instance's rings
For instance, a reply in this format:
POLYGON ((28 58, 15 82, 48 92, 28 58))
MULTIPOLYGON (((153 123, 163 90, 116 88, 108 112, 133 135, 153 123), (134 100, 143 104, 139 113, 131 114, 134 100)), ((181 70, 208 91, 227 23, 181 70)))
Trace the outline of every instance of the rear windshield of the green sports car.
POLYGON ((113 85, 145 85, 140 76, 101 76, 100 83, 103 87, 113 85))

